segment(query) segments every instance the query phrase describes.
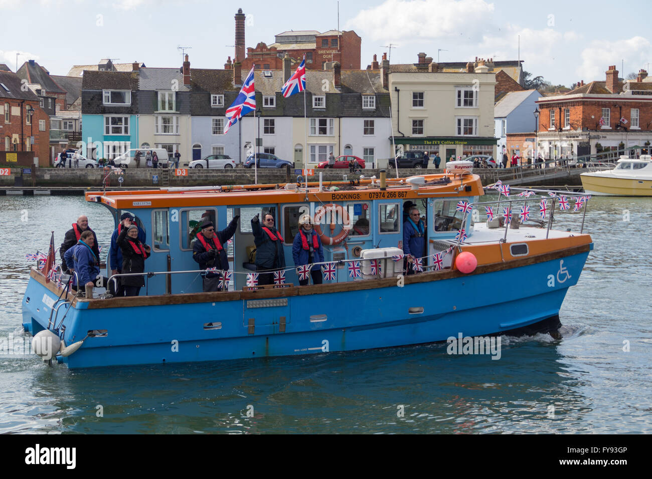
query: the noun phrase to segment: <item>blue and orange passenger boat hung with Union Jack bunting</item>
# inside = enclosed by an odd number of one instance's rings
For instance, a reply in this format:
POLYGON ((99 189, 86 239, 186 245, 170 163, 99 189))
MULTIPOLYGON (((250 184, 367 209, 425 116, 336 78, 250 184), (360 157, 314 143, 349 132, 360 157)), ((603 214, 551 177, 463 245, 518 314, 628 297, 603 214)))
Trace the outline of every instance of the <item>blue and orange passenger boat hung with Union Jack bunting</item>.
MULTIPOLYGON (((510 197, 503 186, 497 198, 479 201, 484 195, 479 177, 466 165, 449 168, 386 181, 383 175, 328 184, 88 192, 87 201, 108 208, 116 227, 128 211, 145 229, 152 247, 146 286, 139 297, 75 297, 33 268, 23 327, 61 339, 57 358, 70 368, 327 353, 446 341, 460 333, 556 330, 563 298, 593 246, 583 233, 585 207, 577 231, 555 231, 552 212, 556 205, 565 210, 572 194, 557 198, 528 191, 510 197), (537 201, 544 219, 527 225, 537 201), (417 273, 408 276, 402 240, 411 205, 424 217, 427 251, 407 263, 417 273), (249 219, 264 212, 273 214, 284 238, 286 276, 284 283, 261 287, 253 280, 249 219), (306 212, 321 231, 329 278, 297 286, 291 248, 306 212), (228 290, 203 293, 192 259, 198 224, 208 218, 220 230, 235 215, 241 218, 228 247, 228 290), (471 261, 460 263, 464 256, 471 261)), ((576 210, 582 209, 585 197, 575 197, 576 210)))

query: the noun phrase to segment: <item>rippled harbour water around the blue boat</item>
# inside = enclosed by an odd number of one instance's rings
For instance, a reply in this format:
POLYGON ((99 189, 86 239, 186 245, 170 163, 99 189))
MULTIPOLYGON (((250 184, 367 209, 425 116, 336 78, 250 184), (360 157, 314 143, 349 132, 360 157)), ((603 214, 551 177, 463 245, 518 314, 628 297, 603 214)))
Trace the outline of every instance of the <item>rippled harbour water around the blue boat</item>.
POLYGON ((499 360, 436 344, 74 371, 23 354, 25 254, 83 213, 106 255, 111 216, 79 196, 0 197, 0 212, 0 433, 652 433, 649 199, 589 201, 595 249, 561 339, 503 337, 499 360))

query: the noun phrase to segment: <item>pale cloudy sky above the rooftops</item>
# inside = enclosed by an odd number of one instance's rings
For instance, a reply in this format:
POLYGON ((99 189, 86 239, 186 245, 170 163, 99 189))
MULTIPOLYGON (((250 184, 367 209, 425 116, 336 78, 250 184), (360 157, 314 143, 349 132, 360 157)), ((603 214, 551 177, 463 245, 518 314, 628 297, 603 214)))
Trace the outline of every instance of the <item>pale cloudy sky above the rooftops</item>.
MULTIPOLYGON (((101 58, 147 66, 181 66, 178 46, 196 68, 222 68, 233 56, 237 8, 247 14, 246 46, 271 44, 286 30, 337 27, 335 0, 0 0, 0 63, 12 70, 35 59, 52 74, 101 58), (237 5, 237 6, 233 6, 237 5), (305 7, 303 7, 305 5, 305 7)), ((623 76, 649 70, 649 0, 346 0, 340 27, 363 39, 362 67, 393 44, 392 63, 417 53, 441 61, 493 57, 524 60, 524 69, 554 84, 604 80, 609 65, 623 76), (622 7, 618 7, 622 5, 622 7), (519 53, 520 36, 520 53, 519 53)))

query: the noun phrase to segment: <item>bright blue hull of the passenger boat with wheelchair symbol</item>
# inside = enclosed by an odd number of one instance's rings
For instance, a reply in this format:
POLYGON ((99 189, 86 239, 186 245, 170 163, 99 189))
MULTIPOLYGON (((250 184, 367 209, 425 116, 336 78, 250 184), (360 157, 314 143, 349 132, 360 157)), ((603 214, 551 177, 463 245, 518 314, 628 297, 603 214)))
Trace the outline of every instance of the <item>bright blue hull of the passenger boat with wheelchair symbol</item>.
MULTIPOLYGON (((553 259, 404 287, 274 298, 286 300, 282 306, 252 308, 260 306, 258 297, 99 309, 77 302, 63 321, 66 343, 82 340, 91 330, 108 334, 88 338, 62 359, 69 368, 198 362, 431 343, 460 333, 501 334, 556 317, 587 255, 562 258, 570 277, 559 277, 560 259, 553 259), (221 328, 205 328, 211 322, 214 327, 221 323, 221 328)), ((30 278, 23 298, 23 327, 33 334, 48 326, 51 310, 44 295, 56 300, 30 278)), ((65 306, 57 323, 64 312, 65 306)))

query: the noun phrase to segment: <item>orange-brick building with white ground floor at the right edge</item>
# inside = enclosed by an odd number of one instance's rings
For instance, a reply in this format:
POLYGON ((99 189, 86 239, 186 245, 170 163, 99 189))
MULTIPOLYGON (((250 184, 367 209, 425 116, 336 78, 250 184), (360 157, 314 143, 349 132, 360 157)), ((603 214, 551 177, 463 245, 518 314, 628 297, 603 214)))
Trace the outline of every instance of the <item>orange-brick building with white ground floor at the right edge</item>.
POLYGON ((640 70, 636 80, 622 81, 611 65, 604 81, 581 80, 565 94, 542 96, 537 100, 538 151, 545 158, 647 152, 652 142, 651 80, 640 70))

